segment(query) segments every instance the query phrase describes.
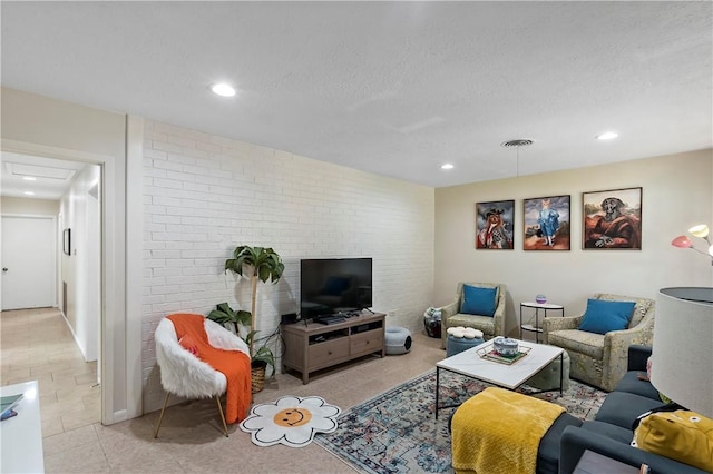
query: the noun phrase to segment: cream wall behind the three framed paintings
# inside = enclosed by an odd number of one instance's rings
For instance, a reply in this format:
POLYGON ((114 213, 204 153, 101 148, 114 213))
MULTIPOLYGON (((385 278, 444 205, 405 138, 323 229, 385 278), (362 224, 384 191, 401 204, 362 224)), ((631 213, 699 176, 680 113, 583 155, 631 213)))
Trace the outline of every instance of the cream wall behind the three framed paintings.
POLYGON ((709 258, 671 246, 695 224, 713 228, 712 189, 712 150, 436 189, 433 303, 450 303, 459 280, 504 283, 506 327, 518 335, 519 304, 539 293, 577 315, 594 293, 655 298, 662 287, 713 286, 709 258), (583 250, 582 194, 639 186, 642 250, 583 250), (572 196, 572 249, 524 251, 522 199, 560 195, 572 196), (515 249, 476 250, 476 203, 504 199, 515 199, 515 249))

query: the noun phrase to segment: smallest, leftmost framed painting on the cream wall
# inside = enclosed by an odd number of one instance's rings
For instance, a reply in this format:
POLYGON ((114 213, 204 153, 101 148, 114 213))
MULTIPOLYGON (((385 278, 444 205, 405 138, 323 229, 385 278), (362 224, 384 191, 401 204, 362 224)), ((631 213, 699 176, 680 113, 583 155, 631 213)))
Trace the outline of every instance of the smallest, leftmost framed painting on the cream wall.
POLYGON ((514 248, 515 200, 476 204, 476 248, 514 248))

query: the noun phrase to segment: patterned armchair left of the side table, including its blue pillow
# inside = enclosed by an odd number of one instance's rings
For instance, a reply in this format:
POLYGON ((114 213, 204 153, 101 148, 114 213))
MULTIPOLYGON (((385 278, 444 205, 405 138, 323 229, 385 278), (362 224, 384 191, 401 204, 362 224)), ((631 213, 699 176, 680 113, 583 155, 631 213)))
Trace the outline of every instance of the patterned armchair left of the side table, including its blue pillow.
MULTIPOLYGON (((482 330, 484 339, 491 339, 495 336, 502 336, 505 330, 505 296, 506 286, 497 283, 471 283, 460 282, 456 289, 456 298, 450 305, 441 308, 441 347, 446 347, 449 327, 472 327, 482 330), (475 288, 476 300, 467 302, 463 294, 463 285, 475 288), (484 314, 482 303, 488 303, 488 290, 494 290, 491 302, 492 315, 484 314), (487 297, 487 298, 486 298, 487 297), (475 303, 475 305, 473 305, 475 303), (470 307, 469 307, 470 306, 470 307), (467 312, 467 313, 466 313, 467 312)), ((488 304, 486 304, 488 306, 488 304)), ((486 309, 485 313, 488 313, 486 309)))

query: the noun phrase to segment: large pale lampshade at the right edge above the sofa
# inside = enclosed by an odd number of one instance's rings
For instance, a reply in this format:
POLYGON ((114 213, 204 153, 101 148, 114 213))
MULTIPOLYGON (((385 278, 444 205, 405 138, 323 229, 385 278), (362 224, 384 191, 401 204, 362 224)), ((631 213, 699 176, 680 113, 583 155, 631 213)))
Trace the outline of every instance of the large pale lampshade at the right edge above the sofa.
POLYGON ((673 402, 713 417, 713 288, 662 288, 651 382, 673 402))

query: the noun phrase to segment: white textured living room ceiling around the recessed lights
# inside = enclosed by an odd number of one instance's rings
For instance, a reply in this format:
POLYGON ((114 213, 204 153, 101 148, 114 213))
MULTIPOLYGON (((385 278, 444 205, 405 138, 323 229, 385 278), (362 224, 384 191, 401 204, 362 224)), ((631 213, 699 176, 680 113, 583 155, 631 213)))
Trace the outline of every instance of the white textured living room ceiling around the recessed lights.
POLYGON ((2 1, 2 86, 443 187, 712 147, 712 7, 2 1))

